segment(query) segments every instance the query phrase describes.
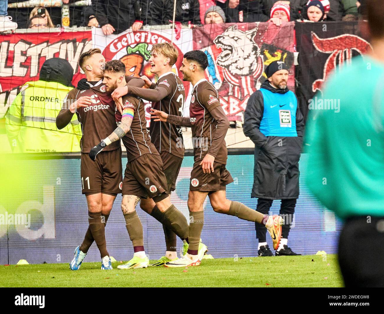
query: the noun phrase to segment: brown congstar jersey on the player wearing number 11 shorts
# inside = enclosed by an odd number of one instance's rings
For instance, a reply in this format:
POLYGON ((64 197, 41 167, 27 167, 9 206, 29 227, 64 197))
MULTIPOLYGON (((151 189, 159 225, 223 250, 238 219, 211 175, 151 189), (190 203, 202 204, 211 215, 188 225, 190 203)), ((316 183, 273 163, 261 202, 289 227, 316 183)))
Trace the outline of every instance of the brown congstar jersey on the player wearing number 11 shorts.
MULTIPOLYGON (((95 145, 108 137, 116 128, 114 123, 115 103, 111 94, 106 92, 103 80, 100 80, 86 90, 72 89, 64 99, 64 106, 66 106, 66 101, 76 100, 82 96, 92 98, 91 105, 79 107, 76 111, 77 118, 81 123, 81 131, 83 132, 80 141, 81 152, 89 153, 95 145)), ((117 141, 106 146, 104 151, 116 150, 119 147, 120 143, 117 141)))

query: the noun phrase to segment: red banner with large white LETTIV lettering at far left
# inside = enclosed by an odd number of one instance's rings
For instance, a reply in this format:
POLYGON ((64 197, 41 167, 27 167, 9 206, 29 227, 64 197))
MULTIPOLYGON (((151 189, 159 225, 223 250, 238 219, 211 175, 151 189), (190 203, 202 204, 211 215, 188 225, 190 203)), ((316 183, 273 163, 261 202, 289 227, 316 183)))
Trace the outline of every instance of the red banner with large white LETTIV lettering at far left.
POLYGON ((46 59, 67 59, 73 67, 72 84, 81 74, 78 59, 92 48, 91 31, 58 33, 16 33, 0 35, 0 118, 8 110, 25 82, 37 81, 46 59))

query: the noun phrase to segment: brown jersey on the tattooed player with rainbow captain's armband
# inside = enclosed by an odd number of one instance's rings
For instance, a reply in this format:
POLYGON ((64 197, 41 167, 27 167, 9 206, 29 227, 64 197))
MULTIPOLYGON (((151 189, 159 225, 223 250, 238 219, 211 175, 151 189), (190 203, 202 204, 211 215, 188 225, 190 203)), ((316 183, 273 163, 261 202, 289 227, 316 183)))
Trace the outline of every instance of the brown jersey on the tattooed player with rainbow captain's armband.
MULTIPOLYGON (((156 147, 151 143, 151 138, 147 131, 144 102, 142 99, 128 94, 122 97, 122 104, 124 108, 132 108, 134 110, 131 129, 121 138, 127 150, 128 162, 144 154, 159 155, 156 147)), ((116 125, 120 125, 121 114, 119 111, 115 112, 115 119, 116 125)))

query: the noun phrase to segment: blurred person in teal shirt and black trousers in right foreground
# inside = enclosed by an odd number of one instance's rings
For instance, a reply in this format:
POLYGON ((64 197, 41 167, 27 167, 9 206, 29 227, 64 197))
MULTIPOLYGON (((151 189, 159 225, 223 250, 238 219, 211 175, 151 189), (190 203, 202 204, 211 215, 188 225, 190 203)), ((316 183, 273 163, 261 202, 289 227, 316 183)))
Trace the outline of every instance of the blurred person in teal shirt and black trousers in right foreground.
POLYGON ((321 100, 338 110, 309 110, 307 185, 344 220, 339 264, 346 287, 384 286, 384 7, 365 2, 362 33, 372 52, 336 70, 321 100), (366 84, 367 77, 371 84, 366 84), (340 88, 342 82, 343 87, 340 88))

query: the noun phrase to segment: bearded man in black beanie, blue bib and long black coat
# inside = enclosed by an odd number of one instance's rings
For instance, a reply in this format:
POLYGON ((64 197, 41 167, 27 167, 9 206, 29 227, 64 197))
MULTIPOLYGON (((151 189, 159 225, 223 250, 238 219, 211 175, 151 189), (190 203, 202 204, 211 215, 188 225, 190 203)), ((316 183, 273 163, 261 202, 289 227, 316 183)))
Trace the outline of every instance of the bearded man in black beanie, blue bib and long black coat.
MULTIPOLYGON (((265 69, 268 79, 248 100, 243 131, 255 143, 255 169, 251 197, 257 211, 268 214, 274 199, 281 199, 285 223, 275 255, 298 255, 288 247, 288 233, 299 197, 299 159, 304 120, 294 92, 288 89, 288 67, 274 61, 265 69)), ((265 230, 255 225, 258 256, 272 256, 265 230)))

